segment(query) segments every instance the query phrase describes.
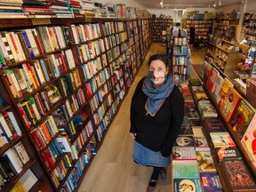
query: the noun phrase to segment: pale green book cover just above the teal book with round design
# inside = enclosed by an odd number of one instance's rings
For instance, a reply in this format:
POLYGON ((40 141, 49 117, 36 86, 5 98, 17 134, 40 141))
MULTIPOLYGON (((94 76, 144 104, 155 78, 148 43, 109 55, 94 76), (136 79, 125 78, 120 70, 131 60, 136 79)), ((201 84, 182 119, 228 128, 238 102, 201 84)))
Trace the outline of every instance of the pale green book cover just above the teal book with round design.
POLYGON ((199 168, 196 161, 174 161, 172 162, 172 178, 173 179, 199 179, 199 168))

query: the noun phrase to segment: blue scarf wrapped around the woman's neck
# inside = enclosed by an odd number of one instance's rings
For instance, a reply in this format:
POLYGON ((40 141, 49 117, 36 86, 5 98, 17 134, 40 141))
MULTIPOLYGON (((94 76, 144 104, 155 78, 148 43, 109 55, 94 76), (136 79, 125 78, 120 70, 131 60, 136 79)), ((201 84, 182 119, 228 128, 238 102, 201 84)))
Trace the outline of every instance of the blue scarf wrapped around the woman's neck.
POLYGON ((165 83, 161 87, 155 88, 150 78, 150 76, 146 76, 142 85, 142 92, 148 96, 145 105, 148 114, 150 116, 155 116, 156 112, 163 105, 164 100, 171 94, 174 87, 174 81, 172 76, 167 76, 165 83))

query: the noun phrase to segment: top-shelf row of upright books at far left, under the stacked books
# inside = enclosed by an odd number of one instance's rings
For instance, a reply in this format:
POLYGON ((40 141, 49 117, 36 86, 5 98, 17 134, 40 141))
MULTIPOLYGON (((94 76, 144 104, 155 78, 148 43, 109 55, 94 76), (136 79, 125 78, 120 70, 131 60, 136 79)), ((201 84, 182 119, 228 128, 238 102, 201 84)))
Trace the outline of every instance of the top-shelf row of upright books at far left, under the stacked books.
POLYGON ((52 26, 3 31, 0 34, 1 66, 33 59, 45 52, 72 45, 68 27, 52 26))

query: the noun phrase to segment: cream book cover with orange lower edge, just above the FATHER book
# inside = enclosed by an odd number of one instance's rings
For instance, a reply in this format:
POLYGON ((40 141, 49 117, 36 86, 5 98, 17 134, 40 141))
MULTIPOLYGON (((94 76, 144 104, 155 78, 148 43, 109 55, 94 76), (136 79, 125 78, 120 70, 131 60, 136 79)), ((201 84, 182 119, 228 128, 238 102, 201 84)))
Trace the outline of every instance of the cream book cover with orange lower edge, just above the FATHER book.
POLYGON ((236 148, 236 144, 229 132, 210 132, 214 148, 236 148))

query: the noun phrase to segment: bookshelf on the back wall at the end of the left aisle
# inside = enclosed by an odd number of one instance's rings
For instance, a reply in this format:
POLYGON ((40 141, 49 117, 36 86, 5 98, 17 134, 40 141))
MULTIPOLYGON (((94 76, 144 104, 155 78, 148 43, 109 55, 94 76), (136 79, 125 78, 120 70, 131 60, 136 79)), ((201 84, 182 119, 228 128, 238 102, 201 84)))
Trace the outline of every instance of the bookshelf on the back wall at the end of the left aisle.
POLYGON ((153 19, 153 41, 163 42, 162 31, 165 31, 166 28, 170 28, 171 26, 172 26, 172 19, 162 19, 162 18, 153 19))

